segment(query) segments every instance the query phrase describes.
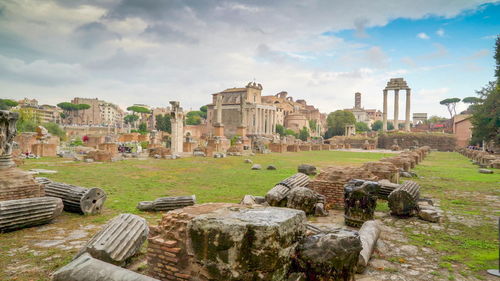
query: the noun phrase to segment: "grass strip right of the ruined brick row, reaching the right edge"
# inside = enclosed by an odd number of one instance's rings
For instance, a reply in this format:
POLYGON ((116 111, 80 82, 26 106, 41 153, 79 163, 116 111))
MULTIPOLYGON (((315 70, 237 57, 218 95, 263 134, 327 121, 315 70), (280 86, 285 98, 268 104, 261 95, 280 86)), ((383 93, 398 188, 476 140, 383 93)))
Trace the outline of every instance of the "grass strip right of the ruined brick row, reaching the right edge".
POLYGON ((442 268, 452 274, 478 278, 486 269, 498 267, 498 220, 500 216, 500 171, 480 174, 478 166, 458 153, 431 153, 415 172, 421 194, 438 199, 445 212, 441 229, 428 228, 415 234, 405 228, 415 245, 443 254, 442 268), (454 272, 453 265, 467 271, 454 272))

